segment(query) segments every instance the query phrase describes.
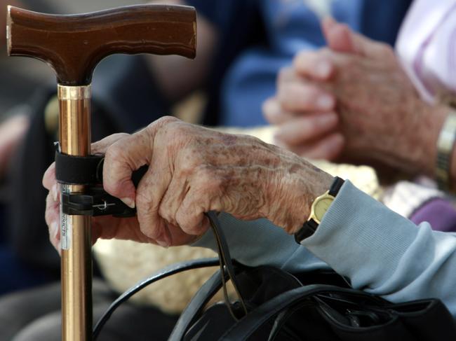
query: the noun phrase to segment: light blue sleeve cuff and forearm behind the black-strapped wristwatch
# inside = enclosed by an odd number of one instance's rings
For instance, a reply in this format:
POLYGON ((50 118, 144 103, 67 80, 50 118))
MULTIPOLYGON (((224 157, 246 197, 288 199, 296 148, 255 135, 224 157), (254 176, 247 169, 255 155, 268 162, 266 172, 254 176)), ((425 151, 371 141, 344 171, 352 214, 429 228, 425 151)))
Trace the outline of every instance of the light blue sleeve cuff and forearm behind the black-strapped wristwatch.
POLYGON ((355 288, 393 302, 441 298, 456 316, 455 235, 417 227, 351 183, 304 246, 355 288))

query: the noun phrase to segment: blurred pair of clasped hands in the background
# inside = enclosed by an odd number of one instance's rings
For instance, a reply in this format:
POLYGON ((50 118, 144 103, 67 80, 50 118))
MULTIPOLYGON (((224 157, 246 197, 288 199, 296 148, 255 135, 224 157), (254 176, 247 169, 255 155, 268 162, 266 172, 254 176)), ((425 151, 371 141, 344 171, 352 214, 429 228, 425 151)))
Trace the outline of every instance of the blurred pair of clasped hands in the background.
POLYGON ((278 144, 309 158, 373 165, 386 174, 434 176, 438 132, 450 107, 423 102, 386 44, 328 20, 323 34, 329 48, 298 53, 293 66, 280 71, 276 95, 263 106, 267 119, 279 125, 278 144), (325 75, 318 73, 323 61, 325 75), (315 93, 337 101, 328 112, 339 120, 328 130, 318 130, 315 93), (298 123, 309 129, 298 130, 298 123))

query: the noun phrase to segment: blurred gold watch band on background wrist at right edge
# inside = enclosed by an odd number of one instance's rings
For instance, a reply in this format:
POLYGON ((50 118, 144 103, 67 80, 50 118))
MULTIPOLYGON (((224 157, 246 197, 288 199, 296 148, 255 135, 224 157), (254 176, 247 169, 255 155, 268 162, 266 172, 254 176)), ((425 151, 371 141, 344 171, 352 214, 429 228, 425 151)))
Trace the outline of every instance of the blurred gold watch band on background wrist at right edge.
POLYGON ((448 113, 437 141, 436 180, 438 188, 450 190, 451 155, 456 141, 456 111, 448 113))

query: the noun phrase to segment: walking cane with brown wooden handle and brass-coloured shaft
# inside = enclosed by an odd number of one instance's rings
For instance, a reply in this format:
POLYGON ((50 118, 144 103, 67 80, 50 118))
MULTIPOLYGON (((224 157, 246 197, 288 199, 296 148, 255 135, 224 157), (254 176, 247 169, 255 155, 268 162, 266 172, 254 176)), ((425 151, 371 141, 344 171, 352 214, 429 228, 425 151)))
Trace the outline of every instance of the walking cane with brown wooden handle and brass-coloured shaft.
MULTIPOLYGON (((60 153, 85 160, 90 155, 90 82, 98 62, 114 53, 193 58, 196 13, 188 6, 140 5, 47 15, 8 6, 7 39, 8 55, 34 57, 55 70, 60 153)), ((62 195, 83 195, 88 186, 67 181, 60 190, 62 195)), ((60 228, 62 340, 88 341, 92 339, 90 215, 65 214, 60 207, 60 228)))

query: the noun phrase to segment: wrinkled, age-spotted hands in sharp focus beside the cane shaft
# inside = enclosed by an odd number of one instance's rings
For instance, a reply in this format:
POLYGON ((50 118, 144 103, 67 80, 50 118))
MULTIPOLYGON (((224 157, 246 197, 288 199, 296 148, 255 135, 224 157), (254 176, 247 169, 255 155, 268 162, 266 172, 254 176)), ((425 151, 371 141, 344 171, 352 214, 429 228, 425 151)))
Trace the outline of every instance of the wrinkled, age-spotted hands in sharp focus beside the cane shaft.
MULTIPOLYGON (((268 218, 293 233, 309 215, 314 198, 333 181, 276 146, 170 117, 132 135, 107 137, 93 145, 93 152, 105 153, 105 190, 138 210, 138 218, 95 218, 94 239, 188 244, 208 229, 207 211, 225 211, 244 220, 268 218), (142 165, 149 170, 135 188, 131 174, 142 165)), ((51 189, 46 221, 58 247, 53 172, 51 166, 43 184, 51 189)))

